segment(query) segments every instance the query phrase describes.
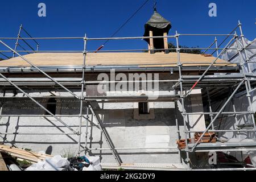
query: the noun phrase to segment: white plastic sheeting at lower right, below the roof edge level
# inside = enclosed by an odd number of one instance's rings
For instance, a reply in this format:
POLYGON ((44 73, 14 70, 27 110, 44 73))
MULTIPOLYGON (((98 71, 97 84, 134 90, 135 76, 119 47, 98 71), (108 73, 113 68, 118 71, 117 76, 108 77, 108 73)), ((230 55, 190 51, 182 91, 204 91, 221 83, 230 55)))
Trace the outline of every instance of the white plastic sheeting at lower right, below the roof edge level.
MULTIPOLYGON (((253 111, 256 111, 256 91, 251 93, 251 106, 253 107, 253 111)), ((225 102, 223 100, 222 102, 225 102)), ((216 110, 220 103, 216 103, 212 105, 213 110, 216 110)), ((223 104, 223 103, 222 103, 223 104)), ((225 107, 224 111, 234 111, 233 104, 235 106, 236 111, 250 111, 250 106, 248 104, 248 99, 246 93, 238 93, 234 96, 233 100, 229 102, 229 104, 225 107)), ((221 115, 220 115, 221 117, 221 115)), ((214 129, 219 130, 237 130, 242 127, 253 127, 253 120, 251 115, 249 114, 237 114, 236 117, 234 115, 230 115, 229 117, 224 117, 222 119, 218 119, 214 124, 214 129), (246 125, 246 126, 245 126, 246 125), (219 127, 217 127, 219 126, 219 127)), ((243 128, 245 129, 245 128, 243 128)), ((218 138, 220 138, 223 142, 255 142, 255 132, 219 132, 218 138)), ((227 152, 229 155, 236 157, 240 161, 244 161, 247 156, 250 156, 251 162, 256 167, 256 151, 233 151, 227 152)))

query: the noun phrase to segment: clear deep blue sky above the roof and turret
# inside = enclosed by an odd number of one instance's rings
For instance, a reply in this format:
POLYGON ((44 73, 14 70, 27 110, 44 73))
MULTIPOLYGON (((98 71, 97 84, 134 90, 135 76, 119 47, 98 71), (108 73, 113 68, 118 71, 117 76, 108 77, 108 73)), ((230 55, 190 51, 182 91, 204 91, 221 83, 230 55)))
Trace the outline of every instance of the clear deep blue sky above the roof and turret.
MULTIPOLYGON (((84 36, 89 38, 109 37, 129 18, 144 0, 131 1, 1 1, 0 37, 15 37, 22 23, 24 28, 35 37, 84 36), (47 16, 39 18, 38 4, 46 3, 47 16)), ((116 36, 142 36, 144 23, 152 15, 153 0, 147 3, 139 13, 116 36)), ((184 34, 228 34, 241 20, 246 38, 253 40, 256 32, 256 1, 170 1, 159 0, 158 12, 172 23, 169 35, 175 30, 184 34), (208 5, 217 5, 217 17, 208 16, 208 5)), ((181 45, 189 47, 208 47, 213 37, 182 37, 181 45)), ((222 37, 218 38, 221 41, 222 37)), ((171 41, 171 40, 170 40, 171 41)), ((14 42, 6 41, 11 47, 14 42)), ((88 49, 94 50, 104 41, 88 43, 88 49)), ((81 50, 81 40, 40 40, 42 50, 81 50)), ((0 46, 1 49, 5 49, 0 46)), ((147 48, 142 40, 112 40, 105 49, 142 49, 147 48)))

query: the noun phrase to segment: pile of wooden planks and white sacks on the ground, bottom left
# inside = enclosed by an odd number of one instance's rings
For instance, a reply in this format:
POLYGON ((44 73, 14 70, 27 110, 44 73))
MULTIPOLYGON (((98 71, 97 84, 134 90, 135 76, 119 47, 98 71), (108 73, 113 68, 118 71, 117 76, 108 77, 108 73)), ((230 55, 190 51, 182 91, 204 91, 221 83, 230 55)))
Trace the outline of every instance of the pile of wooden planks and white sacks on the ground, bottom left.
MULTIPOLYGON (((60 155, 38 154, 36 152, 22 150, 10 146, 0 145, 3 154, 11 155, 19 159, 28 160, 30 164, 25 171, 101 171, 100 157, 79 156, 73 158, 63 158, 60 155), (36 162, 36 163, 35 163, 36 162)), ((1 154, 1 152, 0 152, 1 154)), ((0 155, 0 169, 8 171, 5 161, 0 155)), ((11 171, 21 171, 16 164, 9 166, 11 171)))

